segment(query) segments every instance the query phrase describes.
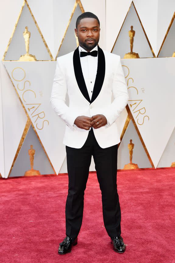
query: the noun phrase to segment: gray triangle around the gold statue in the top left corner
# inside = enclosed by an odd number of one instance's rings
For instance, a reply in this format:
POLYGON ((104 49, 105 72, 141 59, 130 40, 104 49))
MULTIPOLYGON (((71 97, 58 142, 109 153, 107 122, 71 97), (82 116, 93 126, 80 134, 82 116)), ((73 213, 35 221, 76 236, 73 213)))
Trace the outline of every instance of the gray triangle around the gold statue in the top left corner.
POLYGON ((23 37, 23 32, 26 26, 30 32, 29 53, 31 55, 35 55, 37 60, 51 60, 47 48, 26 4, 21 12, 21 16, 4 60, 19 60, 21 55, 26 54, 25 41, 23 37))

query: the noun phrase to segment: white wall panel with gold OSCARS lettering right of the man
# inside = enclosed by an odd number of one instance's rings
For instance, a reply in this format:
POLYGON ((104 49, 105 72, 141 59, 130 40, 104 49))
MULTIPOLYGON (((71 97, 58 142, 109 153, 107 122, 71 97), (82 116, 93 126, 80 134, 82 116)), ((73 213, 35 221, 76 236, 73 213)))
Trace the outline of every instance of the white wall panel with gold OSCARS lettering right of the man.
POLYGON ((175 59, 122 59, 122 65, 129 69, 128 75, 123 67, 128 106, 156 167, 175 125, 175 59))

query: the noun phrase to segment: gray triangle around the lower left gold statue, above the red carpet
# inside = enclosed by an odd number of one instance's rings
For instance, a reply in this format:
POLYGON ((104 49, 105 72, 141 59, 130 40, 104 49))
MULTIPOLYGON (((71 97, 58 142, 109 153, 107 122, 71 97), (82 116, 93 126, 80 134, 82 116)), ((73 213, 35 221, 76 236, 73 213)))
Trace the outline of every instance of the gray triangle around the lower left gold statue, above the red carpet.
POLYGON ((30 156, 28 154, 31 144, 33 145, 33 149, 35 149, 33 169, 39 170, 40 174, 54 174, 51 164, 47 159, 37 135, 33 130, 33 127, 30 125, 9 177, 24 176, 25 172, 31 169, 30 156))

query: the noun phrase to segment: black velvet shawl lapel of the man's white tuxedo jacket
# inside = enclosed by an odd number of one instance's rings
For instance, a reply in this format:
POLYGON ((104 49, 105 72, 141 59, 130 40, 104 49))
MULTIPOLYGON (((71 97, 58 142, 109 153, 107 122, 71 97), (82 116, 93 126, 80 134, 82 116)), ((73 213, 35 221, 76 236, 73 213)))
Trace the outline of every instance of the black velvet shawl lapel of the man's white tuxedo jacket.
POLYGON ((89 94, 87 91, 86 83, 83 77, 80 56, 79 56, 79 48, 76 48, 73 54, 73 65, 74 65, 74 72, 77 84, 83 96, 86 98, 87 101, 92 103, 97 96, 99 95, 103 81, 105 76, 105 56, 103 50, 98 46, 98 66, 97 66, 97 73, 96 73, 96 80, 93 88, 92 98, 90 100, 89 94))

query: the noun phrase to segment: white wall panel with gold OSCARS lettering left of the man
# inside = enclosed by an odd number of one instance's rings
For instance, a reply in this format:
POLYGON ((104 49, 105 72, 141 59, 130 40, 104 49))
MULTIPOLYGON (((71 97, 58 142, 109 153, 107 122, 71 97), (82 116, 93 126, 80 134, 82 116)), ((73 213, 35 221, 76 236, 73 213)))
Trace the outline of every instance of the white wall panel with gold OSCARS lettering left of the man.
POLYGON ((33 126, 58 174, 65 159, 65 122, 51 104, 56 61, 4 62, 33 126))

